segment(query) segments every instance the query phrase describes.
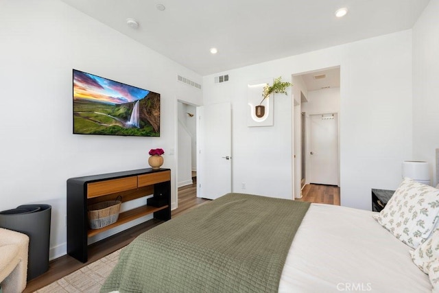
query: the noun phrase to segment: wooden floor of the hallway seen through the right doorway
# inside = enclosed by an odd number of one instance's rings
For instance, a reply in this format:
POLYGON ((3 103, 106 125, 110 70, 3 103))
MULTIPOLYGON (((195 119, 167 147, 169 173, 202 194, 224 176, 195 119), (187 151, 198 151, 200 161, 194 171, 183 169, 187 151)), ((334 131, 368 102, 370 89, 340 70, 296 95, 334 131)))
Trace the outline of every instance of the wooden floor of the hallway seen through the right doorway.
POLYGON ((302 189, 302 202, 340 205, 340 187, 333 185, 307 184, 302 189))

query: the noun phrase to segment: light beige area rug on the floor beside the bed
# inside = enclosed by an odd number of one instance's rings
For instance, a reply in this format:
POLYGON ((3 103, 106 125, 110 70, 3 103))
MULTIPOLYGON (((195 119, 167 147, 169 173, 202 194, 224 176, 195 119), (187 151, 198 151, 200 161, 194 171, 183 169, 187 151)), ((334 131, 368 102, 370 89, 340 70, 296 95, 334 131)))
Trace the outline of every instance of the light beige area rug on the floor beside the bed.
POLYGON ((120 249, 47 285, 37 293, 96 293, 119 259, 120 249))

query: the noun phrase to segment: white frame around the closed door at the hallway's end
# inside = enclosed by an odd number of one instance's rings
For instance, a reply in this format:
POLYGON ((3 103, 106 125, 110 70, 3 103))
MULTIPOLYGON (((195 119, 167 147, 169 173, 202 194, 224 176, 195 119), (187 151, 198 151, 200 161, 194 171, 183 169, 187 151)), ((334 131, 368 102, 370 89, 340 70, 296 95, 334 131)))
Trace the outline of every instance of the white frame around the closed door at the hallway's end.
POLYGON ((306 148, 306 157, 305 157, 305 163, 307 165, 307 168, 305 170, 305 184, 309 184, 309 178, 311 178, 311 121, 310 116, 311 115, 324 115, 324 114, 337 114, 337 154, 338 154, 338 160, 337 160, 337 186, 340 187, 340 111, 324 111, 324 112, 316 112, 316 113, 306 113, 305 117, 305 139, 307 140, 305 143, 306 148))

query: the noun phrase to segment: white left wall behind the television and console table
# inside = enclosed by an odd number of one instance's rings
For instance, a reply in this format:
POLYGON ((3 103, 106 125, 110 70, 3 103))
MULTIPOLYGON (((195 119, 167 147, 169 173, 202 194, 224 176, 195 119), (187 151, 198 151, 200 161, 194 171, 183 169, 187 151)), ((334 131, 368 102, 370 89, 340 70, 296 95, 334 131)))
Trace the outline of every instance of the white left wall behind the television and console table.
POLYGON ((0 1, 0 210, 52 205, 51 257, 66 253, 66 180, 141 169, 165 150, 175 202, 176 97, 201 77, 56 0, 0 1), (72 68, 161 93, 161 137, 72 134, 72 68))

